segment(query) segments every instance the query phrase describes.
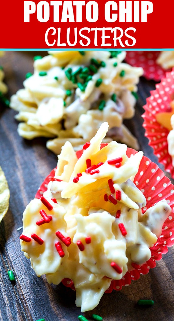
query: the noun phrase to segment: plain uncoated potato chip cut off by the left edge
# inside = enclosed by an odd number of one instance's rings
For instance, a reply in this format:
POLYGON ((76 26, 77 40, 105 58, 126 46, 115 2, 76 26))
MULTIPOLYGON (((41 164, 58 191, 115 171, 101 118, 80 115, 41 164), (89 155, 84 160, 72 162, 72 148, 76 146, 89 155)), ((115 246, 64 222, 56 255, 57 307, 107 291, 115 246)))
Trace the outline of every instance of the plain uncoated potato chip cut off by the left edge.
POLYGON ((10 191, 4 172, 0 167, 0 222, 8 211, 10 191))

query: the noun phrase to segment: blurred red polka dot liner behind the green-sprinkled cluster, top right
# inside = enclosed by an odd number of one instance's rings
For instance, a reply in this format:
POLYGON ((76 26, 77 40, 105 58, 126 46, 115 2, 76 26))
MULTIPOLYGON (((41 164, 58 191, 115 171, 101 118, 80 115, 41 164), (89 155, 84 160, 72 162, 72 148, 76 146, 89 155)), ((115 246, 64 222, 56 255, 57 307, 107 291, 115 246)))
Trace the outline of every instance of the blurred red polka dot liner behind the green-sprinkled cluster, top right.
POLYGON ((156 63, 159 54, 160 51, 127 51, 125 60, 131 66, 142 67, 146 79, 159 82, 166 74, 166 70, 156 63))

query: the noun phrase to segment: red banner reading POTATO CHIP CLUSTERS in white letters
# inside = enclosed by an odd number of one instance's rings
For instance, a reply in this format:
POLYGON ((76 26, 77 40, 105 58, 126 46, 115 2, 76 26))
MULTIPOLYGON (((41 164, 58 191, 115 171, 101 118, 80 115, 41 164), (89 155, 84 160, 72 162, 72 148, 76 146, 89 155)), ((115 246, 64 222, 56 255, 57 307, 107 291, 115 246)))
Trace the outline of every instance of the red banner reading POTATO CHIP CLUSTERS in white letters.
POLYGON ((173 48, 174 1, 3 1, 1 48, 173 48))

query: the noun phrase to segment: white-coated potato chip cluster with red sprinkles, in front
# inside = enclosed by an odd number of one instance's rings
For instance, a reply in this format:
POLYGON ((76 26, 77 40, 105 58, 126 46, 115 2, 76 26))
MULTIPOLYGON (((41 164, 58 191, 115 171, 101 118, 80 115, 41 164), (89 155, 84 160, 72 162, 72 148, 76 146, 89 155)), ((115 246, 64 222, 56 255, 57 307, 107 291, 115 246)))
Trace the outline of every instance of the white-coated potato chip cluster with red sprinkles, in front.
POLYGON ((72 279, 76 289, 76 305, 81 311, 95 308, 111 280, 120 280, 127 271, 133 269, 132 263, 141 265, 151 257, 150 247, 157 241, 163 222, 171 209, 165 200, 159 202, 142 214, 145 206, 144 195, 134 185, 133 179, 138 171, 143 153, 138 152, 128 158, 127 146, 111 142, 100 150, 100 144, 108 130, 104 123, 90 141, 90 146, 77 159, 71 144, 67 142, 58 156, 55 178, 62 181, 49 182, 44 197, 53 206, 49 211, 41 200, 34 199, 23 213, 23 234, 30 237, 37 234, 44 243, 35 240, 21 241, 22 251, 30 258, 37 275, 46 274, 49 283, 59 284, 63 278, 72 279), (122 157, 121 167, 108 164, 108 160, 122 157), (92 165, 103 162, 99 173, 86 173, 86 160, 92 165), (79 181, 73 181, 81 173, 79 181), (115 191, 121 192, 120 201, 113 204, 105 201, 104 195, 112 195, 108 180, 112 179, 115 191), (51 198, 54 197, 58 204, 51 198), (52 216, 52 221, 41 226, 40 209, 52 216), (116 218, 117 211, 121 215, 116 218), (123 224, 127 234, 120 230, 123 224), (72 243, 65 246, 56 235, 70 237, 72 243), (87 242, 86 238, 90 238, 87 242), (62 244, 64 257, 60 257, 55 243, 62 244), (82 244, 78 247, 77 242, 82 244), (111 264, 116 265, 116 269, 111 264), (118 269, 119 267, 119 269, 118 269))

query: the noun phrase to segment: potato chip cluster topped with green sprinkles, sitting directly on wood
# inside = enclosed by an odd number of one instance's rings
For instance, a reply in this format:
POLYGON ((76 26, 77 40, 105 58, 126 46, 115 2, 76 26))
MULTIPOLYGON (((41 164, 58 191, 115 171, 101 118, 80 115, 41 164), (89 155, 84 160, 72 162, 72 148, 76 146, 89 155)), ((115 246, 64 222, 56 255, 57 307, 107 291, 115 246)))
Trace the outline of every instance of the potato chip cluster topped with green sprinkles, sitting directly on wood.
MULTIPOLYGON (((52 138, 47 148, 58 154, 69 140, 83 146, 107 121, 105 142, 113 140, 137 149, 135 137, 123 125, 134 116, 142 68, 123 63, 123 51, 51 51, 34 62, 34 74, 12 96, 18 111, 18 133, 26 139, 52 138)), ((29 75, 28 75, 29 76, 29 75)))

